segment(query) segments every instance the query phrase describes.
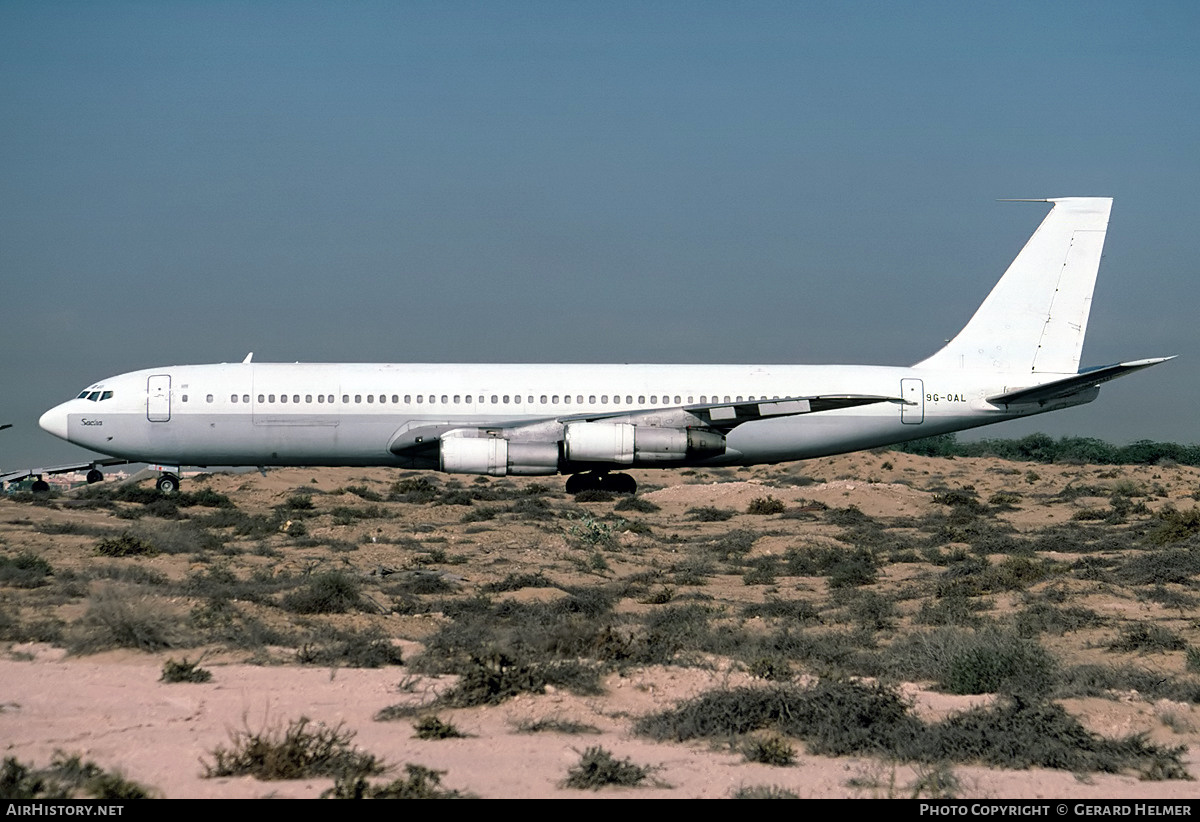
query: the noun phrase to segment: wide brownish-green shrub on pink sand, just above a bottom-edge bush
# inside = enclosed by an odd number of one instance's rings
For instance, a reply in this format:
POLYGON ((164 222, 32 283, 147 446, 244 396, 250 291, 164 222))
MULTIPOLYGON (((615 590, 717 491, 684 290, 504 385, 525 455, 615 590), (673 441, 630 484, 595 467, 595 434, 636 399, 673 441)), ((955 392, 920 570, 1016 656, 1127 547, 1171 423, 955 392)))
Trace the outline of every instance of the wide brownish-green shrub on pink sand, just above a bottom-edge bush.
POLYGON ((329 727, 307 716, 262 731, 242 728, 229 734, 230 746, 217 746, 204 762, 204 776, 253 776, 263 780, 312 776, 368 775, 385 766, 354 748, 354 732, 342 724, 329 727))

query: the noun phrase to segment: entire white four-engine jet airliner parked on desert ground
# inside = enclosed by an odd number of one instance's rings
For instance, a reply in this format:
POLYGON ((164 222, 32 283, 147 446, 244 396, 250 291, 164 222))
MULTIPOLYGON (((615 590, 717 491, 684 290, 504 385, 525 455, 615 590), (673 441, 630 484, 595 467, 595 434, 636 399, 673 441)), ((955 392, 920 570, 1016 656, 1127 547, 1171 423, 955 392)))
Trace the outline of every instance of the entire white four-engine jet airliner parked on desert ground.
POLYGON ((1087 403, 1102 383, 1174 359, 1080 370, 1112 200, 1022 202, 1051 209, 966 326, 908 367, 282 364, 251 353, 103 379, 40 425, 154 463, 166 493, 182 466, 565 474, 569 493, 634 493, 622 469, 878 448, 1087 403))

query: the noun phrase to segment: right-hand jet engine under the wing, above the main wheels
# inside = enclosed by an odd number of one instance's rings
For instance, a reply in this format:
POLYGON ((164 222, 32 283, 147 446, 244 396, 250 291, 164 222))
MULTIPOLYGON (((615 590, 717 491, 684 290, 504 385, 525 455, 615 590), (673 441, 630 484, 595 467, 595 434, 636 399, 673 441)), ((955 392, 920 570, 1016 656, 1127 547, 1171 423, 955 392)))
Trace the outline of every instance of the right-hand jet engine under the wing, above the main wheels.
POLYGON ((631 422, 570 422, 564 456, 571 462, 631 466, 683 462, 725 454, 725 437, 697 428, 655 428, 631 422))

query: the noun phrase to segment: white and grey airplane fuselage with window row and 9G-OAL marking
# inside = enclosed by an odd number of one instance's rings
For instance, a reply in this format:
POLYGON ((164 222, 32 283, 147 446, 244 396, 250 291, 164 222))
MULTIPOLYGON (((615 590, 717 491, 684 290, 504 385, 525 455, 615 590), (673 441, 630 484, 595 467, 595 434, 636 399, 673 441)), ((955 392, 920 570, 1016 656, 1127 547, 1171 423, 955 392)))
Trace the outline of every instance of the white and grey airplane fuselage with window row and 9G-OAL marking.
POLYGON ((728 432, 724 454, 671 463, 756 464, 971 428, 1097 395, 1093 389, 1014 408, 985 400, 1045 379, 856 365, 185 365, 96 383, 47 412, 41 425, 104 455, 169 466, 436 468, 392 446, 404 432, 427 427, 497 427, 536 439, 539 421, 590 414, 630 413, 640 426, 672 428, 688 425, 683 408, 696 404, 839 394, 896 398, 754 420, 728 432))

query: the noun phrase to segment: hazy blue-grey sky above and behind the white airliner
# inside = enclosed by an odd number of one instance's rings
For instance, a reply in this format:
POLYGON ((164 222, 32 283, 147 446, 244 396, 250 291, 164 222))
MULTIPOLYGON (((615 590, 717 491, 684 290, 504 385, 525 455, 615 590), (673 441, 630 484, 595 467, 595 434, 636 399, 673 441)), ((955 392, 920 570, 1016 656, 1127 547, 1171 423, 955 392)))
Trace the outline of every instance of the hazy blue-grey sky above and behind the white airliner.
POLYGON ((1116 198, 1085 365, 985 430, 1196 442, 1193 2, 0 2, 0 466, 102 377, 906 365, 1116 198))

